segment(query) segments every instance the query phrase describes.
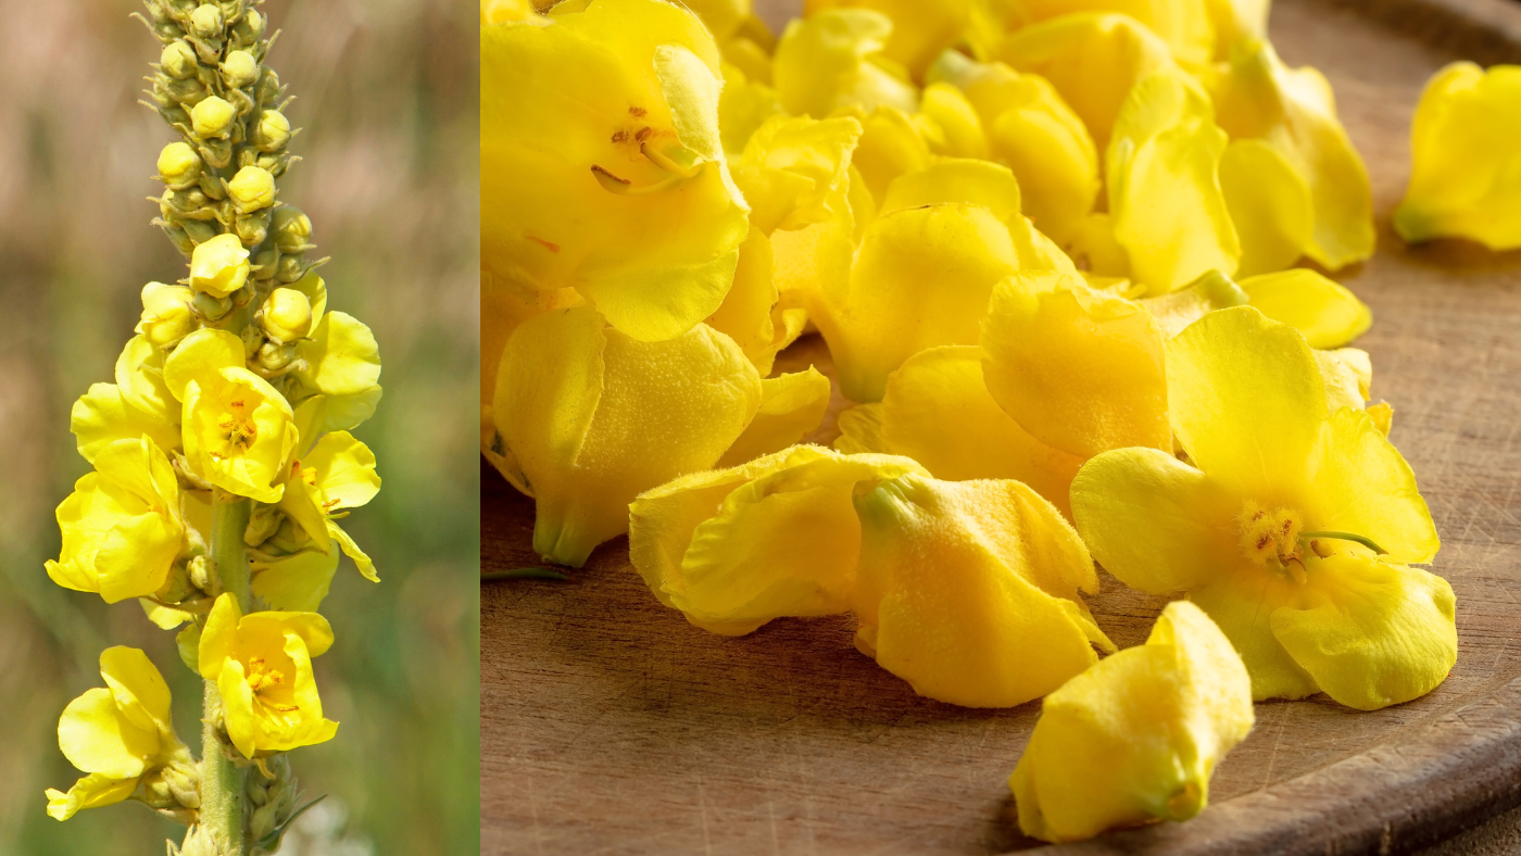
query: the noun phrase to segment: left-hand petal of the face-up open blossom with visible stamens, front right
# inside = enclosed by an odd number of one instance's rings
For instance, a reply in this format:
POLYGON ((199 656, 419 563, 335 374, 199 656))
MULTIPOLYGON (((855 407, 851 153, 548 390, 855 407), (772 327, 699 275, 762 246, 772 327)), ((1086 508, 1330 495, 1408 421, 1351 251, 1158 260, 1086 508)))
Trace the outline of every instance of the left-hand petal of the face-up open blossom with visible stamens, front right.
POLYGON ((1115 449, 1072 479, 1072 522, 1094 560, 1150 594, 1188 591, 1235 567, 1234 497, 1157 449, 1115 449))

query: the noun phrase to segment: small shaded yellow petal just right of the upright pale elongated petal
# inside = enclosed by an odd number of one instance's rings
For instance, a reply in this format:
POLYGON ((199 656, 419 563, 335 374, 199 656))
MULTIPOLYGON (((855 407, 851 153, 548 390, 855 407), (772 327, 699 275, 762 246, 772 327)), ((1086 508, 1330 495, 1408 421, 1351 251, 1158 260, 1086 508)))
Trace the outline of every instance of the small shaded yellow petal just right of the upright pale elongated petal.
POLYGON ((1241 239, 1237 275, 1288 268, 1310 246, 1316 214, 1310 187, 1264 140, 1232 140, 1220 155, 1220 190, 1241 239))

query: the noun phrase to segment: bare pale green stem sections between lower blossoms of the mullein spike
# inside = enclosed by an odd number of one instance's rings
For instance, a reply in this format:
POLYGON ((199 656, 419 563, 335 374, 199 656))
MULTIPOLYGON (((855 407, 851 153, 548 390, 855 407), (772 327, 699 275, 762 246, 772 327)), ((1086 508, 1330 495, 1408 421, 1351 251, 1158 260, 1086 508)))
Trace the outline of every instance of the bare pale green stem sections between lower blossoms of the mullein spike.
MULTIPOLYGON (((221 590, 231 593, 243 613, 252 599, 248 590, 248 547, 243 544, 248 515, 246 499, 221 488, 211 491, 211 564, 221 590)), ((221 727, 222 693, 216 689, 216 681, 205 683, 201 718, 205 725, 201 730, 199 826, 216 842, 218 856, 245 856, 248 810, 243 800, 248 769, 237 766, 227 754, 227 737, 221 727)))

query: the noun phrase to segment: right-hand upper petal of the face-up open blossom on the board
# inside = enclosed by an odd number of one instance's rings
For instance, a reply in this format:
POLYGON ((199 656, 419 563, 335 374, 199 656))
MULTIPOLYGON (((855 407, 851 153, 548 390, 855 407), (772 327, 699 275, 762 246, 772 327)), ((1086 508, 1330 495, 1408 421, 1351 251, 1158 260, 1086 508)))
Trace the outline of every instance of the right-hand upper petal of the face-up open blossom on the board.
POLYGON ((1372 538, 1398 563, 1428 563, 1440 541, 1415 473, 1363 411, 1342 407, 1320 429, 1305 528, 1372 538))

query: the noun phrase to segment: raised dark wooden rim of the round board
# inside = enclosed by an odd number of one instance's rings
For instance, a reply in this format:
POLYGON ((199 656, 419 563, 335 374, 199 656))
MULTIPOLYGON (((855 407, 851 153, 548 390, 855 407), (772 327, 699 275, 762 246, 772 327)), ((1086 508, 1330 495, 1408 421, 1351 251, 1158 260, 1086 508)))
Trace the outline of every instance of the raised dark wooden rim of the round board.
MULTIPOLYGON (((1323 0, 1481 65, 1521 64, 1516 0, 1323 0)), ((1521 680, 1326 768, 1211 806, 1186 824, 1022 856, 1411 853, 1521 806, 1521 680)))

